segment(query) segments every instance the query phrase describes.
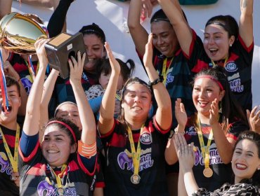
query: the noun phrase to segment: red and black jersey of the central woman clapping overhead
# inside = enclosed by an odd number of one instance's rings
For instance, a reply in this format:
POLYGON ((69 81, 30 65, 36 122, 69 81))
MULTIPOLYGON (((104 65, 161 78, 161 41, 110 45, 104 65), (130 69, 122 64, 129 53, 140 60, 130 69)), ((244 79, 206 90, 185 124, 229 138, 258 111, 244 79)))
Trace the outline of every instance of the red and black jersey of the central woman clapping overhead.
POLYGON ((146 121, 141 136, 140 130, 132 131, 135 146, 139 137, 141 144, 138 184, 131 183, 134 165, 128 134, 122 124, 115 120, 112 130, 101 136, 106 144, 105 195, 168 195, 164 150, 169 130, 160 129, 153 119, 146 121))

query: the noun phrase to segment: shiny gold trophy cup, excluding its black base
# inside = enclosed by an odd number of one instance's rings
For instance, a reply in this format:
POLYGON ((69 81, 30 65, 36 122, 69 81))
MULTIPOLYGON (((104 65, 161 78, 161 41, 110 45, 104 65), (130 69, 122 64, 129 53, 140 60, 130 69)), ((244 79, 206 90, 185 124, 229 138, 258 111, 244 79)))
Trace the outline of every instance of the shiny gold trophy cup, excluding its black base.
POLYGON ((34 43, 39 38, 48 38, 46 31, 25 15, 13 12, 0 21, 1 48, 23 55, 35 54, 34 43))

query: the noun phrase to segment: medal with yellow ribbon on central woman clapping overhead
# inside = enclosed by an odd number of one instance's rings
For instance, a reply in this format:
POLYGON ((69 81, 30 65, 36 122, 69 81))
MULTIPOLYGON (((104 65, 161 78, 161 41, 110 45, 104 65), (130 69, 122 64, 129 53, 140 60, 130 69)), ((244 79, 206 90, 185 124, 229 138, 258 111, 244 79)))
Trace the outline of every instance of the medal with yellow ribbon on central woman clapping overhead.
POLYGON ((142 127, 141 127, 137 148, 134 146, 133 134, 132 134, 130 127, 128 127, 128 129, 127 129, 129 142, 130 142, 130 146, 131 146, 131 155, 132 155, 133 165, 134 165, 134 174, 130 178, 131 183, 133 183, 133 184, 138 184, 141 181, 141 177, 138 175, 138 173, 139 173, 140 157, 141 157, 140 137, 143 132, 143 127, 144 127, 144 125, 142 125, 142 127))

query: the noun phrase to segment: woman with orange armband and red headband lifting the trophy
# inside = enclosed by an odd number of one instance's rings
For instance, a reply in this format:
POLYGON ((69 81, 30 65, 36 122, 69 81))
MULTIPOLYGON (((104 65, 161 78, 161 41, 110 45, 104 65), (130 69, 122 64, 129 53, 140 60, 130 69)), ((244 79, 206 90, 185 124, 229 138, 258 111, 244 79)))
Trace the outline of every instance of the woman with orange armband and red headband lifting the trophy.
POLYGON ((27 113, 20 140, 20 195, 91 195, 90 187, 96 168, 96 123, 81 85, 86 54, 69 60, 70 83, 75 94, 82 136, 68 120, 53 119, 45 127, 39 144, 40 102, 44 73, 48 64, 44 45, 35 43, 39 71, 28 98, 27 113))

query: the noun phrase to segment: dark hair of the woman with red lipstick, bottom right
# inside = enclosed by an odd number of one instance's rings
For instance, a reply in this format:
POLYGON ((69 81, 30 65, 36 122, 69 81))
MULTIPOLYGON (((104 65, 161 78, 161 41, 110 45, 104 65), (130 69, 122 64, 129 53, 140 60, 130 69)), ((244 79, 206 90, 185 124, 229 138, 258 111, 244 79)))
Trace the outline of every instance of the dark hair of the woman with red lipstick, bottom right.
MULTIPOLYGON (((252 131, 242 132, 238 136, 238 140, 235 143, 235 147, 238 145, 240 141, 244 139, 248 139, 249 141, 252 141, 254 144, 256 144, 257 151, 258 151, 257 155, 258 158, 260 159, 260 134, 252 131)), ((240 183, 252 183, 253 185, 260 186, 260 170, 256 169, 256 172, 254 172, 252 179, 242 179, 240 183)))

